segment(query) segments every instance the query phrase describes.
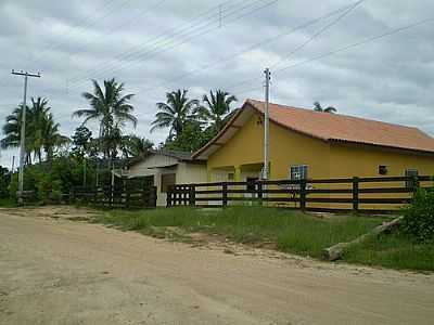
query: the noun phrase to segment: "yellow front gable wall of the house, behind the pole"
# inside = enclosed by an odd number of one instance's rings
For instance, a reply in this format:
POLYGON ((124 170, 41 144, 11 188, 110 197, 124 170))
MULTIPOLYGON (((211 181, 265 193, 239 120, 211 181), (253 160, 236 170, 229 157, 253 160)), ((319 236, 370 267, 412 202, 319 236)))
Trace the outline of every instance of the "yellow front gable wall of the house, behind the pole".
MULTIPOLYGON (((270 179, 288 179, 291 165, 309 166, 309 178, 329 178, 328 143, 270 123, 270 179)), ((234 167, 252 173, 252 165, 264 160, 264 127, 258 115, 252 118, 217 152, 208 157, 209 180, 218 168, 234 167), (248 166, 247 166, 248 165, 248 166)), ((259 168, 259 167, 258 167, 259 168)), ((235 177, 237 173, 235 172, 235 177)), ((239 177, 240 178, 240 177, 239 177)), ((240 181, 240 179, 235 179, 240 181)))

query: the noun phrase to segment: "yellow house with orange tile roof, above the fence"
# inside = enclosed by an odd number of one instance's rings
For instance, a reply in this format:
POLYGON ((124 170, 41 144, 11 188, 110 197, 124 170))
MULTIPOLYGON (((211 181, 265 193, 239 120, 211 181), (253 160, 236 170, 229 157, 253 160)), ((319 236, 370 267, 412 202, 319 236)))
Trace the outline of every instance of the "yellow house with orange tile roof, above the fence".
MULTIPOLYGON (((193 158, 208 182, 259 179, 264 102, 247 100, 193 158)), ((434 174, 434 139, 417 128, 270 104, 270 180, 434 174)))

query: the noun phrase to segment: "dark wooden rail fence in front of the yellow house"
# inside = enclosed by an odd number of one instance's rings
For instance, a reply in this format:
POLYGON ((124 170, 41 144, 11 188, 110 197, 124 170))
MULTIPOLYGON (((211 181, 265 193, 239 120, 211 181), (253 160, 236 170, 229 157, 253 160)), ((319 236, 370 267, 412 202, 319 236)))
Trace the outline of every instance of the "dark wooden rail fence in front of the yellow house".
POLYGON ((408 204, 416 188, 431 186, 433 178, 424 176, 179 184, 167 193, 167 207, 258 204, 319 211, 384 211, 408 204))

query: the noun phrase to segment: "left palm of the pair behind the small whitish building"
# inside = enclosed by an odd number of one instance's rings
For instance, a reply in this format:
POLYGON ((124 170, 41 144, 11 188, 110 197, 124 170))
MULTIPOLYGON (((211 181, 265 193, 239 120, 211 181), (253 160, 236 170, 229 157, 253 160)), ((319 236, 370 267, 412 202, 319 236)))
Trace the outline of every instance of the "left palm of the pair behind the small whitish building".
POLYGON ((166 93, 166 103, 156 103, 158 113, 155 114, 155 120, 152 122, 151 132, 155 129, 169 128, 169 138, 179 136, 186 123, 192 120, 194 109, 199 106, 197 100, 189 100, 187 90, 180 90, 166 93))

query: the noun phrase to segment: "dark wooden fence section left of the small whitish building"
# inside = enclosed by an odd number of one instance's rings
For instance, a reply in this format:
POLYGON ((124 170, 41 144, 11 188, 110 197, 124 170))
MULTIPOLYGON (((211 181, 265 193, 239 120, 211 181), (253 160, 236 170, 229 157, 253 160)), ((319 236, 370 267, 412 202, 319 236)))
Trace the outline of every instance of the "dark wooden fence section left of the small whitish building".
POLYGON ((71 203, 85 203, 101 208, 155 208, 156 187, 74 187, 69 194, 71 203))

